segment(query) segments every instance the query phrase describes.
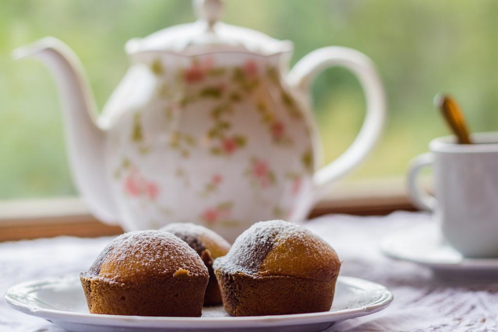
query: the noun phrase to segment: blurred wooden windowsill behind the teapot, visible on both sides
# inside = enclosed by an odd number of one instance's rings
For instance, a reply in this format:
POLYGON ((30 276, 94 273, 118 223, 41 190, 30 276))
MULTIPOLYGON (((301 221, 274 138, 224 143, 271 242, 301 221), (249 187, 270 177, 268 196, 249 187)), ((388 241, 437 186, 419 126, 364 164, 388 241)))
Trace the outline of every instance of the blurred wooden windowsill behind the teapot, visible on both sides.
MULTIPOLYGON (((310 213, 310 218, 339 213, 387 215, 414 211, 400 180, 348 183, 338 187, 310 213)), ((79 198, 0 202, 0 241, 74 235, 95 237, 123 232, 90 215, 79 198)))

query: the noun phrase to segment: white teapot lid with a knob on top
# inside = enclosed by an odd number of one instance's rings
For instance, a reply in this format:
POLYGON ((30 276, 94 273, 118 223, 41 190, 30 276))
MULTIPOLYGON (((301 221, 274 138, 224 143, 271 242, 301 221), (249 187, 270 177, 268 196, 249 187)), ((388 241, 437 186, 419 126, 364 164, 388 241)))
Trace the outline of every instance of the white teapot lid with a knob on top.
POLYGON ((182 55, 242 51, 272 55, 292 50, 292 42, 220 22, 222 0, 193 0, 198 20, 154 32, 126 43, 128 54, 166 51, 182 55))

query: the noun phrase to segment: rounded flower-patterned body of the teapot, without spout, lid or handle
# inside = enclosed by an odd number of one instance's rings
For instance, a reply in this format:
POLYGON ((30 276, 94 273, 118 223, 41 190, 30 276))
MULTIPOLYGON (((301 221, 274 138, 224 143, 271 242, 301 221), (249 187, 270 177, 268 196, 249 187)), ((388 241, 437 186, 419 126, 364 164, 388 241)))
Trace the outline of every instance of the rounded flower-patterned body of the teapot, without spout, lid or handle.
POLYGON ((174 220, 241 231, 290 216, 311 188, 310 130, 280 80, 278 58, 246 57, 233 65, 209 54, 145 61, 153 93, 110 130, 124 216, 154 216, 141 221, 154 228, 174 220))

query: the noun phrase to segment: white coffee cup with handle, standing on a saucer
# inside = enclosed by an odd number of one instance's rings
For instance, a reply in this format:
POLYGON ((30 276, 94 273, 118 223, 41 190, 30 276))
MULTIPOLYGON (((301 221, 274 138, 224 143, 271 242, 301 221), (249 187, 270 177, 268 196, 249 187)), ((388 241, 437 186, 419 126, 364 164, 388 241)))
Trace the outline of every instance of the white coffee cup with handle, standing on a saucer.
POLYGON ((498 132, 472 135, 476 144, 456 144, 454 136, 429 143, 408 172, 413 204, 434 212, 446 241, 465 257, 498 257, 498 132), (435 197, 417 185, 431 165, 435 197))

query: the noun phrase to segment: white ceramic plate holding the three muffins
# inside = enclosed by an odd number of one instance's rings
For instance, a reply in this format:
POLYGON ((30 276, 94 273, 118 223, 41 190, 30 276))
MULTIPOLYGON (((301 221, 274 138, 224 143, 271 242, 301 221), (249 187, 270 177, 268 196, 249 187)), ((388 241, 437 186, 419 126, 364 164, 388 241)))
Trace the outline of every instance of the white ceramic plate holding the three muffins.
POLYGON ((386 308, 392 294, 367 280, 339 277, 332 308, 322 313, 230 317, 217 306, 205 307, 200 318, 94 315, 88 313, 78 275, 70 274, 18 284, 5 293, 5 300, 70 331, 321 331, 386 308))

